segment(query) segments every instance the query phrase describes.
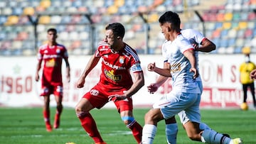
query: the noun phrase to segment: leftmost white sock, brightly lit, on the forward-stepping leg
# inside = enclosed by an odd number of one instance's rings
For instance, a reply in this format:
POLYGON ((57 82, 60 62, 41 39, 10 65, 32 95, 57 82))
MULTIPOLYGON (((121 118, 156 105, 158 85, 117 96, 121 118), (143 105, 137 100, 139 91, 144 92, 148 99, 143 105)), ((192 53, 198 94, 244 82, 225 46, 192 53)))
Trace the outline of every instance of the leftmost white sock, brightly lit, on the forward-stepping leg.
POLYGON ((156 135, 156 126, 145 124, 142 130, 142 144, 152 144, 156 135))

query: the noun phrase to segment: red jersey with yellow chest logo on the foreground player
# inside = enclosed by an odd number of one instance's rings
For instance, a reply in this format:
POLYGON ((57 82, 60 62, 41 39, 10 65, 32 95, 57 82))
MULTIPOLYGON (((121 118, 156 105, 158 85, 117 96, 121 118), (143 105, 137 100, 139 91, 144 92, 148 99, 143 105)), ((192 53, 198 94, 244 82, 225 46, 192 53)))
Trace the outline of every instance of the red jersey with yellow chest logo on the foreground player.
POLYGON ((130 72, 142 72, 137 52, 126 43, 119 52, 112 52, 109 45, 102 41, 95 52, 95 57, 102 58, 100 84, 105 89, 129 89, 133 84, 130 72))

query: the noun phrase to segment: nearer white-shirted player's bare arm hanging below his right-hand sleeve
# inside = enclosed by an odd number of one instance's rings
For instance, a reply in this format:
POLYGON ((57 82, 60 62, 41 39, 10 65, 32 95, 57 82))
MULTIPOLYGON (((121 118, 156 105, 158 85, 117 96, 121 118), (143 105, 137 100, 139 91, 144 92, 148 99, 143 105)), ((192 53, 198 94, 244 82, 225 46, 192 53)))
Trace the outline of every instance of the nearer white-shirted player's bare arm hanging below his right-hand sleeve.
POLYGON ((189 60, 191 63, 190 72, 194 72, 193 78, 196 79, 198 77, 198 70, 196 69, 196 57, 193 49, 189 49, 183 52, 183 55, 189 60))

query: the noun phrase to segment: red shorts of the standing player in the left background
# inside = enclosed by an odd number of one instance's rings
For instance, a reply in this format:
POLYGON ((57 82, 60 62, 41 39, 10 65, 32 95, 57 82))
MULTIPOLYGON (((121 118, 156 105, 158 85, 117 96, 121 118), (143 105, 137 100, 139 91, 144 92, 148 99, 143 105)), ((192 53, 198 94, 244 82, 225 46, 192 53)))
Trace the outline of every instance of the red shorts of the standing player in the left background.
POLYGON ((50 96, 50 94, 54 94, 55 96, 63 96, 63 87, 62 86, 42 86, 42 92, 40 96, 50 96))

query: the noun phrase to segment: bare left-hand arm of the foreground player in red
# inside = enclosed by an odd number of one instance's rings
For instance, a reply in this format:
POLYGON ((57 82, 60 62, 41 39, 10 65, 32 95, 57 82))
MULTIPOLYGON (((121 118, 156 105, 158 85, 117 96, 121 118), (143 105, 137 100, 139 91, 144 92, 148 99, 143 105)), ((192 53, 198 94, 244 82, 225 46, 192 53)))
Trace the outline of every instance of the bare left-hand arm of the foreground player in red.
POLYGON ((85 84, 85 77, 87 77, 87 74, 97 65, 97 62, 99 62, 100 57, 95 57, 95 55, 92 55, 89 62, 87 63, 85 70, 82 72, 80 78, 77 82, 77 87, 81 88, 85 84))

